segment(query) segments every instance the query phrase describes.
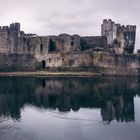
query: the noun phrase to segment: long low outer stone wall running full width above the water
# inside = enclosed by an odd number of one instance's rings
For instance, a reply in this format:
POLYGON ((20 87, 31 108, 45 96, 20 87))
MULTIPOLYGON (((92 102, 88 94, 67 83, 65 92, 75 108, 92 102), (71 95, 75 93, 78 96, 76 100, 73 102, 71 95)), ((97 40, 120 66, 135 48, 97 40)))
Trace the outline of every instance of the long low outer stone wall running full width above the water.
POLYGON ((139 54, 100 52, 30 54, 0 53, 0 72, 5 71, 91 71, 103 75, 140 75, 139 54), (45 61, 45 68, 43 61, 45 61))

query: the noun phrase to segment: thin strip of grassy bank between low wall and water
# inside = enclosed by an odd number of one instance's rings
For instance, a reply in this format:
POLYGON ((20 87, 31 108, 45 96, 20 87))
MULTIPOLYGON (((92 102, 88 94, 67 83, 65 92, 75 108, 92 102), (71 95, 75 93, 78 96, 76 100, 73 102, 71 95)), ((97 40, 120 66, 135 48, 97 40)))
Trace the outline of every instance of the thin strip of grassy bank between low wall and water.
POLYGON ((2 76, 39 76, 39 77, 95 77, 102 76, 99 73, 93 72, 0 72, 0 77, 2 76))

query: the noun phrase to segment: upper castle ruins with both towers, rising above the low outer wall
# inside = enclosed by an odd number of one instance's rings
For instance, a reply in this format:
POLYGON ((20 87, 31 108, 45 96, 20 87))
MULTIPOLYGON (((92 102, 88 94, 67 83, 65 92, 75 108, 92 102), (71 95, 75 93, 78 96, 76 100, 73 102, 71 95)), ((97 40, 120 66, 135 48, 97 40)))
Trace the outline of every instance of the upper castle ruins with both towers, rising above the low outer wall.
POLYGON ((20 24, 0 27, 0 52, 44 55, 52 52, 104 51, 108 53, 133 53, 136 26, 115 24, 111 19, 103 20, 101 36, 80 37, 37 36, 20 31, 20 24))

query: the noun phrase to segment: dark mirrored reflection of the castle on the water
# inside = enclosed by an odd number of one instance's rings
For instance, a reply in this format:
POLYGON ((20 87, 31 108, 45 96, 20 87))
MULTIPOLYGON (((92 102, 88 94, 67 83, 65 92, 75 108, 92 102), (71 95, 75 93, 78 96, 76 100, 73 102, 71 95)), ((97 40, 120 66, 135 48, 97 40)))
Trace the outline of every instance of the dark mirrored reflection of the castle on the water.
POLYGON ((25 105, 60 112, 80 108, 100 109, 102 120, 135 121, 134 97, 140 95, 140 79, 0 78, 0 116, 15 120, 25 105))

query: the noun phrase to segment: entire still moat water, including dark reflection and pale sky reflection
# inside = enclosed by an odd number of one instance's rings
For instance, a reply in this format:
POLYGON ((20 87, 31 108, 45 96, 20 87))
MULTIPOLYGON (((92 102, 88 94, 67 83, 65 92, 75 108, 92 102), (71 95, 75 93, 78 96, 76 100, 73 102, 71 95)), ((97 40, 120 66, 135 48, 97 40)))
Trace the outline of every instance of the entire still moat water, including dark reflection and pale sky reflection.
POLYGON ((0 77, 0 140, 139 140, 140 78, 0 77))

